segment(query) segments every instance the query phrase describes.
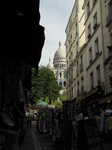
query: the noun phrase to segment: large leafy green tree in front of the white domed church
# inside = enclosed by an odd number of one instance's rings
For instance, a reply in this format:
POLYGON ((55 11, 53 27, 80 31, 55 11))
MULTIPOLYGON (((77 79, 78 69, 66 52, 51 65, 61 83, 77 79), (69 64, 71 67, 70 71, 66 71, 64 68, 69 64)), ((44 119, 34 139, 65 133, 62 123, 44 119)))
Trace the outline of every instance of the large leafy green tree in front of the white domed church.
POLYGON ((41 66, 36 73, 35 68, 32 68, 32 91, 30 94, 32 102, 45 100, 46 97, 49 101, 54 101, 59 96, 60 89, 61 86, 58 85, 53 71, 41 66))

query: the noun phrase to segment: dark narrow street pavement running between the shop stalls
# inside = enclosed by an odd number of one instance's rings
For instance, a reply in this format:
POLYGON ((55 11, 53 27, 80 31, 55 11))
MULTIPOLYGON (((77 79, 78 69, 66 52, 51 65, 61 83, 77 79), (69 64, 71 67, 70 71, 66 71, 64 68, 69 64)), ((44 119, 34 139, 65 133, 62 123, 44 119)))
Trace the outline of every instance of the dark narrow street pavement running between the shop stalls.
MULTIPOLYGON (((57 150, 59 148, 52 146, 52 140, 50 137, 45 137, 42 133, 38 133, 36 130, 36 122, 32 122, 32 128, 26 132, 24 141, 19 144, 18 150, 57 150)), ((112 143, 103 142, 104 150, 112 150, 112 143)))

